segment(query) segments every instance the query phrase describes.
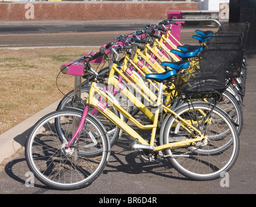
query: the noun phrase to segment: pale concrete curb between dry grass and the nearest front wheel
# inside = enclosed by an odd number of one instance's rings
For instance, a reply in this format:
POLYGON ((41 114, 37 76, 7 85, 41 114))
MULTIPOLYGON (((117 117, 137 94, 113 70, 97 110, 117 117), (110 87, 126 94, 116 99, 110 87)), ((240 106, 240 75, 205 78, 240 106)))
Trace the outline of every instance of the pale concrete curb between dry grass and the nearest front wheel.
POLYGON ((58 100, 49 105, 42 111, 39 111, 27 120, 0 135, 0 163, 3 162, 5 158, 14 155, 14 153, 21 149, 22 146, 25 146, 27 135, 29 134, 31 127, 44 115, 55 111, 59 102, 60 101, 58 100))

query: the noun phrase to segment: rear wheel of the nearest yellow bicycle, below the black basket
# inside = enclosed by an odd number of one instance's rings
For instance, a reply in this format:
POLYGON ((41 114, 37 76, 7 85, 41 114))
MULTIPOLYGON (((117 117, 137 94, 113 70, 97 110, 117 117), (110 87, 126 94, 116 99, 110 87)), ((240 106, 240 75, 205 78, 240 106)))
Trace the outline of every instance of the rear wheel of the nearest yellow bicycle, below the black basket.
MULTIPOLYGON (((211 110, 209 103, 194 102, 182 105, 175 110, 175 113, 188 122, 192 120, 200 122, 203 119, 202 111, 209 114, 211 110)), ((177 121, 180 121, 179 118, 173 114, 168 115, 161 129, 160 144, 192 138, 192 135, 181 125, 176 124, 177 121)), ((198 125, 194 126, 198 128, 198 125)), ((212 110, 208 121, 200 125, 199 129, 201 133, 207 135, 207 142, 197 142, 189 147, 166 149, 164 152, 173 168, 185 177, 193 180, 218 179, 221 173, 229 171, 237 160, 239 151, 237 130, 231 119, 227 118, 227 114, 218 107, 212 110)))

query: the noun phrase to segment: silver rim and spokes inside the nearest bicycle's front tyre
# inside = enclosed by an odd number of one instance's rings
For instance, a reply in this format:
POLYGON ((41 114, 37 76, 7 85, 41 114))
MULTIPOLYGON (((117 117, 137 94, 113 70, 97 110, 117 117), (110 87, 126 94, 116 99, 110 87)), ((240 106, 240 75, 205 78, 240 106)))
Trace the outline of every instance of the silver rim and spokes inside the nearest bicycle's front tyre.
MULTIPOLYGON (((73 113, 63 115, 66 117, 74 116, 73 113)), ((79 117, 81 114, 76 114, 76 116, 79 117)), ((52 127, 54 124, 49 125, 48 123, 51 120, 56 120, 57 117, 58 114, 44 120, 32 133, 33 138, 28 145, 28 158, 34 169, 32 171, 38 174, 37 177, 40 177, 42 182, 55 186, 71 187, 89 182, 104 166, 103 163, 106 158, 105 139, 99 138, 101 153, 98 156, 84 156, 79 151, 79 146, 72 147, 70 151, 64 152, 62 148, 65 143, 62 142, 62 139, 58 138, 55 131, 45 129, 45 124, 47 127, 52 127), (51 133, 47 133, 47 131, 51 131, 51 133)), ((90 120, 88 122, 94 125, 90 120)), ((101 131, 96 131, 100 135, 101 131)))

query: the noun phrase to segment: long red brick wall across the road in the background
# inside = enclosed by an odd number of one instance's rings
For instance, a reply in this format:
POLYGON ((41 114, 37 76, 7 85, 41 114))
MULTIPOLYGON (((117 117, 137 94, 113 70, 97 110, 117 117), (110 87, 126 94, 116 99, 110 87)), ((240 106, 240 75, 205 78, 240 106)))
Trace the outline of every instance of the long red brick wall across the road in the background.
MULTIPOLYGON (((198 10, 198 3, 175 2, 31 2, 31 20, 164 19, 169 11, 198 10)), ((0 21, 26 20, 27 3, 0 3, 0 21)))

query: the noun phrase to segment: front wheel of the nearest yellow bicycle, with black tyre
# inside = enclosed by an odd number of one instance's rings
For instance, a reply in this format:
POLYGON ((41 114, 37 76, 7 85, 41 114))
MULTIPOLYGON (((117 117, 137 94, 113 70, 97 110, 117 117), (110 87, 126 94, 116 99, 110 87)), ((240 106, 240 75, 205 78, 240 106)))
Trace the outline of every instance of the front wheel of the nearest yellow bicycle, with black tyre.
POLYGON ((69 149, 64 149, 67 142, 59 137, 55 120, 61 123, 66 140, 70 140, 74 120, 80 120, 82 114, 73 109, 55 111, 41 118, 29 133, 25 145, 27 164, 34 176, 51 188, 84 188, 101 174, 107 164, 110 156, 109 138, 103 125, 90 114, 86 116, 77 141, 69 149), (95 152, 97 156, 94 156, 95 152))

